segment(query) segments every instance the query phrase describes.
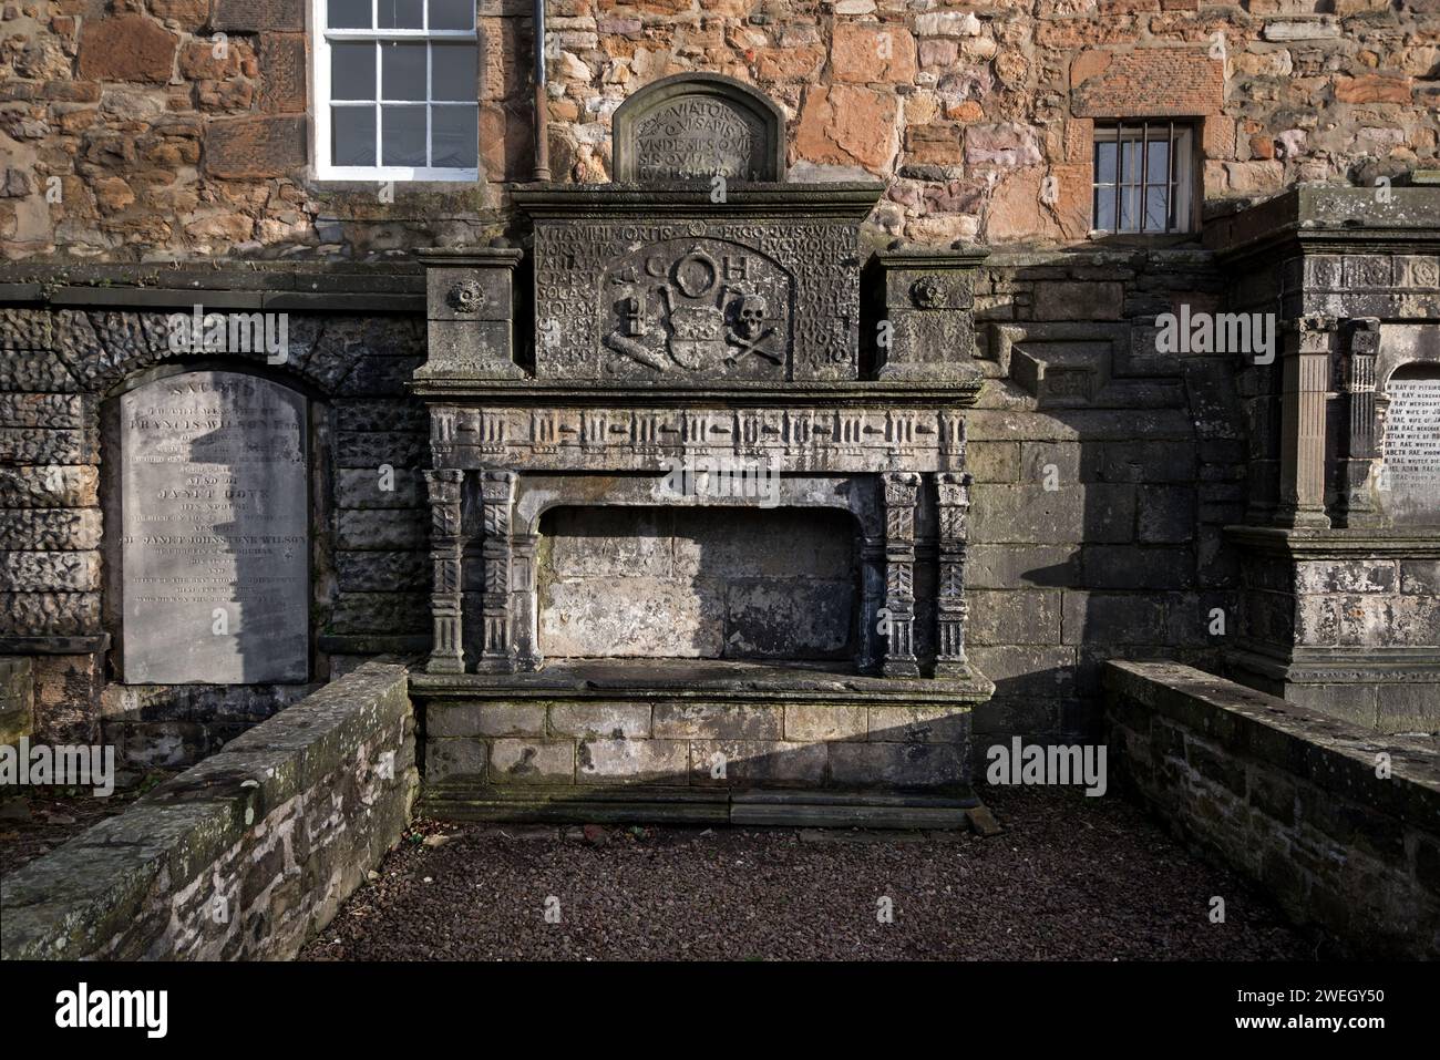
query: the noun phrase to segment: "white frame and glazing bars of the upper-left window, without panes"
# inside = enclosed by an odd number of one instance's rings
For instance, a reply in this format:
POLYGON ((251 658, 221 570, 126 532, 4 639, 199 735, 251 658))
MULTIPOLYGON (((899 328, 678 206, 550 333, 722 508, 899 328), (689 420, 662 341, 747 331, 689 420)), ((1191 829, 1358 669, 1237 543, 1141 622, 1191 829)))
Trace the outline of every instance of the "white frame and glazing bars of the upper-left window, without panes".
MULTIPOLYGON (((377 1, 370 0, 373 24, 379 24, 377 16, 377 1)), ((315 101, 315 179, 317 180, 366 180, 366 181, 408 181, 408 180, 435 180, 435 181, 452 181, 452 183, 475 183, 480 180, 480 169, 442 169, 435 166, 334 166, 330 161, 330 147, 331 147, 331 124, 330 124, 330 45, 346 43, 346 42, 373 42, 373 40, 415 40, 415 42, 429 42, 429 40, 471 40, 475 43, 477 62, 480 52, 480 14, 475 13, 474 23, 471 29, 325 29, 325 16, 330 0, 311 0, 310 1, 310 29, 311 40, 314 43, 315 56, 315 82, 312 85, 311 99, 315 101)), ((425 4, 425 22, 429 23, 429 4, 425 4)), ((380 58, 379 49, 376 49, 376 86, 380 85, 380 58)), ((477 135, 477 151, 480 150, 480 98, 477 85, 477 99, 475 99, 475 135, 477 135)), ((429 73, 426 72, 426 95, 431 91, 429 73)), ((425 121, 429 124, 431 107, 435 101, 426 99, 423 104, 416 101, 415 105, 425 108, 425 121)), ((465 101, 442 101, 442 102, 465 102, 465 101)), ((380 104, 376 104, 376 151, 380 150, 379 135, 380 135, 380 104)), ((429 130, 426 128, 425 143, 429 144, 429 130)), ((379 157, 379 154, 376 154, 379 157)))

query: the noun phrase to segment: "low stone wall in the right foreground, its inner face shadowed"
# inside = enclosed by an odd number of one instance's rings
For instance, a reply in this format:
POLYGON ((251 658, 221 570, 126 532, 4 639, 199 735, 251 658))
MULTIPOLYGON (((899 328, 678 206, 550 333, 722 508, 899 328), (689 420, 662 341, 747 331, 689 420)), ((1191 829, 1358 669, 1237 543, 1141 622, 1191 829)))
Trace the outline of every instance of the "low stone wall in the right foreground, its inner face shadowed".
POLYGON ((1440 958, 1440 747, 1192 667, 1103 680, 1119 779, 1178 835, 1352 955, 1440 958))

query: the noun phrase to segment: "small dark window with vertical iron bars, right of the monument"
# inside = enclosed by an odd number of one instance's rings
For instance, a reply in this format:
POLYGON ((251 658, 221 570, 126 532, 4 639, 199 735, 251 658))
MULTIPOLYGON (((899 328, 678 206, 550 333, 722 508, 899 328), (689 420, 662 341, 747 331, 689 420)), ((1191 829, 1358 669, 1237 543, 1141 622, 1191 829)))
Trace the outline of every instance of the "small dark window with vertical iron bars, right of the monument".
POLYGON ((1189 124, 1096 122, 1092 223, 1096 232, 1189 232, 1194 183, 1189 124))

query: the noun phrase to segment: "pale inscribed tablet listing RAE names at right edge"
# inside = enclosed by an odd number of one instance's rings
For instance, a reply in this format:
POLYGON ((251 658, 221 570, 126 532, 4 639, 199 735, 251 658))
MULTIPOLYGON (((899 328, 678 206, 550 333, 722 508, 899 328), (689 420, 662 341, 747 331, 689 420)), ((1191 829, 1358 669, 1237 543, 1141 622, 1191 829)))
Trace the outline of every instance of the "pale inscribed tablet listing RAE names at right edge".
POLYGON ((1440 523, 1440 376, 1387 386, 1381 495, 1397 523, 1440 523))

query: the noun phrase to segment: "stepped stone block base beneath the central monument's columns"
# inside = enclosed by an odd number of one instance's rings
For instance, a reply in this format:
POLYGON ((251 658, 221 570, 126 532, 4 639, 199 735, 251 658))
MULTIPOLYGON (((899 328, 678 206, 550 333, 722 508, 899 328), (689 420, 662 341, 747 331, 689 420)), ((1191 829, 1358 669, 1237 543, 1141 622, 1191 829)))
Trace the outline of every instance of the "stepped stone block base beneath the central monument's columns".
POLYGON ((426 812, 492 821, 959 827, 992 691, 703 660, 410 677, 426 812))

